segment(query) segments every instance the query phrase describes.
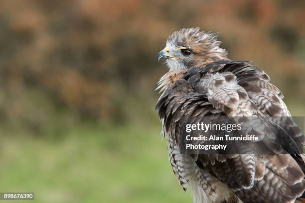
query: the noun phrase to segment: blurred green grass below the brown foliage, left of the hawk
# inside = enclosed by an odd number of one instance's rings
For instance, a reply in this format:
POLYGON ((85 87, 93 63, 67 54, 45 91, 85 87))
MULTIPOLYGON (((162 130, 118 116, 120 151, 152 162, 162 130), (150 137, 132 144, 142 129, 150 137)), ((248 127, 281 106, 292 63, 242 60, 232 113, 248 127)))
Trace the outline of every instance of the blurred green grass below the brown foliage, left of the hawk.
POLYGON ((35 201, 26 202, 191 202, 172 173, 159 127, 89 124, 57 138, 1 134, 0 191, 35 192, 35 201))

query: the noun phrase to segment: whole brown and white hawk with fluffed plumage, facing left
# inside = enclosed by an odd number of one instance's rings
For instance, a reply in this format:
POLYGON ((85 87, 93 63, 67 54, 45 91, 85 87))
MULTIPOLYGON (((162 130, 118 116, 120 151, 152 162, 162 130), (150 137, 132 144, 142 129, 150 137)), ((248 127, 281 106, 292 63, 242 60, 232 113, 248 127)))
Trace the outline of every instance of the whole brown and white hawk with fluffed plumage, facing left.
POLYGON ((161 95, 155 109, 179 184, 184 191, 191 189, 194 203, 302 201, 305 162, 302 150, 297 150, 304 146, 302 131, 269 76, 250 61, 229 60, 217 35, 183 28, 169 36, 157 55, 158 62, 165 59, 169 71, 158 82, 161 95), (296 151, 275 150, 266 155, 180 153, 181 119, 197 121, 218 115, 261 116, 269 123, 260 127, 261 133, 268 133, 271 125, 281 128, 283 139, 296 151), (290 119, 289 125, 272 122, 277 116, 290 119))

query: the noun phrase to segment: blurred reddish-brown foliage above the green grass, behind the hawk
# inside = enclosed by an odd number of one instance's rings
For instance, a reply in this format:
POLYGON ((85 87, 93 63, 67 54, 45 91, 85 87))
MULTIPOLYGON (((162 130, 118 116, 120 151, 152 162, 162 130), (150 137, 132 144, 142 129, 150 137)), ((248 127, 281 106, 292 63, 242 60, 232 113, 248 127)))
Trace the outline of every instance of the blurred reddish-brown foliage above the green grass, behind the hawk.
POLYGON ((231 59, 252 60, 285 95, 305 100, 304 8, 302 0, 2 0, 1 118, 35 111, 39 125, 40 109, 27 108, 34 91, 80 116, 129 120, 125 100, 156 99, 166 70, 155 55, 167 36, 197 26, 220 32, 231 59))

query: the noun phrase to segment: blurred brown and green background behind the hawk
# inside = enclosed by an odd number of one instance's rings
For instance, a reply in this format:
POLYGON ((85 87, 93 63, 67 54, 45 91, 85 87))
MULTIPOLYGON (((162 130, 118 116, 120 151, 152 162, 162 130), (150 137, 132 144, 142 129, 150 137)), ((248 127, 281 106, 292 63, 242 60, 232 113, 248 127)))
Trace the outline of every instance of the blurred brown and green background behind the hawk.
MULTIPOLYGON (((305 116, 304 0, 0 0, 0 192, 43 203, 191 202, 153 110, 173 31, 220 32, 305 116)), ((10 201, 12 202, 12 201, 10 201)))

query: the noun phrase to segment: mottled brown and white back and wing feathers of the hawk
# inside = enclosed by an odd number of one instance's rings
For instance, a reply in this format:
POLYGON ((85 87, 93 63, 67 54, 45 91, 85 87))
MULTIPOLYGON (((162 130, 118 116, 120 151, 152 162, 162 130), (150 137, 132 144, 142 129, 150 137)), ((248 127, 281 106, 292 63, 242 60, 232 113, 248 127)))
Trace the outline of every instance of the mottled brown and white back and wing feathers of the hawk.
MULTIPOLYGON (((305 144, 304 135, 290 117, 282 93, 263 70, 248 61, 218 60, 175 71, 161 78, 159 88, 166 87, 155 109, 169 140, 173 171, 184 190, 191 179, 190 174, 183 174, 183 157, 178 155, 185 119, 196 123, 204 116, 236 116, 244 117, 247 122, 247 116, 260 116, 251 123, 248 120, 252 126, 249 133, 252 130, 251 133, 261 135, 264 146, 273 155, 194 153, 188 161, 193 160, 199 168, 196 176, 205 173, 211 176, 201 187, 207 191, 207 185, 212 187, 212 183, 220 182, 245 203, 292 203, 303 194, 304 161, 298 154, 303 153, 300 145, 305 144), (286 120, 281 123, 287 124, 280 126, 272 118, 275 116, 282 116, 286 120), (274 130, 281 132, 284 149, 279 148, 279 137, 270 135, 274 130), (285 154, 285 150, 294 154, 285 154)), ((215 195, 212 191, 206 193, 215 195)))

